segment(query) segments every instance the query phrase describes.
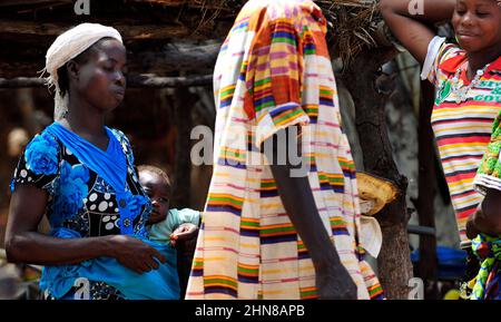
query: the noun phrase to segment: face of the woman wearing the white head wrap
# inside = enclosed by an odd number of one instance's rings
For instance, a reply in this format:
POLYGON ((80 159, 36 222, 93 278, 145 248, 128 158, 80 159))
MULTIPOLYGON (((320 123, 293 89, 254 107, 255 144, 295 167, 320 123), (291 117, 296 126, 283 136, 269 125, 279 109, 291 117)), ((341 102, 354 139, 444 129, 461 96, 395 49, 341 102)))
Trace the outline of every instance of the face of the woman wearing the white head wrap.
POLYGON ((126 49, 116 39, 96 42, 87 61, 79 66, 77 89, 91 106, 109 111, 122 100, 126 90, 126 49))

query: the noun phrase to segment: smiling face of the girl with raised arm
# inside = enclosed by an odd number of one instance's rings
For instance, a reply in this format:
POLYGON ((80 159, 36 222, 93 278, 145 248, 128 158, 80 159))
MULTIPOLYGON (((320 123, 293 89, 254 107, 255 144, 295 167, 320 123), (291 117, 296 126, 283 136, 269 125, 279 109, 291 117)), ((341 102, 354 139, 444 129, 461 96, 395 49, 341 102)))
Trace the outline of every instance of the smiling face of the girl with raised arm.
POLYGON ((452 25, 461 48, 468 52, 501 48, 498 3, 498 0, 458 0, 452 25))

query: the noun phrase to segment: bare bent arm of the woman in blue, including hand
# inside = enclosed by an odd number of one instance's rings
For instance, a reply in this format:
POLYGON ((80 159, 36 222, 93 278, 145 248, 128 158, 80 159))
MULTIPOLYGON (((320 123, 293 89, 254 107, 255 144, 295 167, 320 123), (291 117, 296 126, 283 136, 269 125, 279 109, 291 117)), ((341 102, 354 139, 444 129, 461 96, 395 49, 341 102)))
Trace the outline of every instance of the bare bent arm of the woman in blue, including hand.
POLYGON ((10 262, 59 265, 110 256, 137 273, 157 269, 154 257, 165 263, 166 258, 155 248, 129 236, 63 240, 38 233, 47 201, 47 193, 33 185, 16 188, 6 232, 6 251, 10 262))

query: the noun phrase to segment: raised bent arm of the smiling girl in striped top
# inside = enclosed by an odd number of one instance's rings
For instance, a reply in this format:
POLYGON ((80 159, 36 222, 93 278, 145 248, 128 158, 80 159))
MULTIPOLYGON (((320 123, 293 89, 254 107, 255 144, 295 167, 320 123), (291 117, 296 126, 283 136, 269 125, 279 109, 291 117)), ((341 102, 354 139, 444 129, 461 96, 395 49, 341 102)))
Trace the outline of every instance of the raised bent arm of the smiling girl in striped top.
POLYGON ((435 36, 429 26, 450 20, 455 1, 381 0, 380 10, 393 35, 419 62, 424 64, 428 46, 435 36))

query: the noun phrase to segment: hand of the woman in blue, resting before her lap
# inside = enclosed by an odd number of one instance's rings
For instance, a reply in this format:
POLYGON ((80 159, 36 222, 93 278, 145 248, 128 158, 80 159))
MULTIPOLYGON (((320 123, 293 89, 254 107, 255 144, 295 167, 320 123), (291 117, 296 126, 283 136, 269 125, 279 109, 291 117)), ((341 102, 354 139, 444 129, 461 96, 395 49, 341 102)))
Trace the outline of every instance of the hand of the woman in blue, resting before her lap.
POLYGON ((163 264, 167 262, 157 250, 138 238, 127 235, 112 235, 108 238, 110 256, 138 274, 158 270, 158 261, 163 264))

